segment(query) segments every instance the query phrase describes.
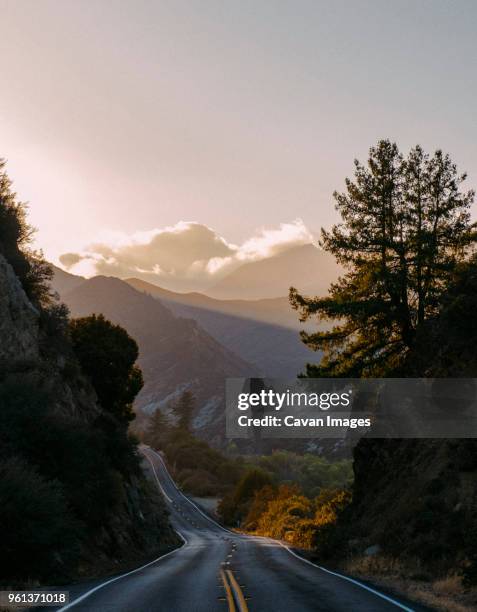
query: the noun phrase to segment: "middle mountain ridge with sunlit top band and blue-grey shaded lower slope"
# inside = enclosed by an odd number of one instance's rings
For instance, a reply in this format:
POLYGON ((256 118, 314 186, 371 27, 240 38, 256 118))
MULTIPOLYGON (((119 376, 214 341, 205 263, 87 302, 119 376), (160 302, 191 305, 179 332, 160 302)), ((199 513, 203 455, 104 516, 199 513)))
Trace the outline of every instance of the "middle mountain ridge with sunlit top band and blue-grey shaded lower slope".
POLYGON ((302 325, 287 298, 216 300, 200 293, 174 293, 139 279, 127 282, 160 299, 178 316, 198 321, 224 346, 258 365, 266 376, 295 376, 308 361, 318 359, 301 342, 298 329, 302 325))

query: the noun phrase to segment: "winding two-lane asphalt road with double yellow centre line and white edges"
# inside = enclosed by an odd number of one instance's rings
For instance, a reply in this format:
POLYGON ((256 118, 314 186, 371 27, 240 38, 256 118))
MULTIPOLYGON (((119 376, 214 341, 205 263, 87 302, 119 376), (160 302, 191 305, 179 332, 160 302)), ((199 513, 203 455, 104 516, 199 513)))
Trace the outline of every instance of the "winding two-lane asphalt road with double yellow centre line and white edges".
POLYGON ((186 498, 142 449, 182 547, 106 581, 71 587, 74 612, 397 612, 422 610, 320 568, 268 538, 232 533, 186 498))

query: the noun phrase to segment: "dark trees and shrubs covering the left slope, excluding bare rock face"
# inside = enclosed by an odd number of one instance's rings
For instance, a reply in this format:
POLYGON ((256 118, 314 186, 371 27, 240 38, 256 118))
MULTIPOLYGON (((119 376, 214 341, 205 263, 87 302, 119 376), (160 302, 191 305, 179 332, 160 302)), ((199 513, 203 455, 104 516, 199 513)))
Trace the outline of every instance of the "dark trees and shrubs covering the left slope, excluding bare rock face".
MULTIPOLYGON (((71 579, 92 542, 111 556, 119 551, 119 516, 149 512, 132 497, 140 475, 128 435, 142 386, 137 345, 101 316, 69 320, 50 291, 50 266, 30 249, 32 235, 0 161, 0 254, 38 323, 34 363, 12 369, 0 359, 0 576, 9 585, 71 579)), ((130 536, 145 550, 139 523, 130 536)))

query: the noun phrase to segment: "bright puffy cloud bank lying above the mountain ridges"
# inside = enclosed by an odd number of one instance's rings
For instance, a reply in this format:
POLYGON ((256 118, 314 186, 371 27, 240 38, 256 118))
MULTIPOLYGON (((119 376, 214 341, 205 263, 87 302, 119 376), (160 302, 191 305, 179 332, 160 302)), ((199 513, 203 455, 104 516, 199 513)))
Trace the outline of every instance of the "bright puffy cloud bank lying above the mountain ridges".
POLYGON ((260 229, 241 245, 228 242, 201 223, 180 221, 129 236, 109 234, 81 253, 61 255, 60 262, 86 276, 137 277, 169 289, 203 289, 245 262, 271 257, 312 240, 301 219, 274 229, 260 229))

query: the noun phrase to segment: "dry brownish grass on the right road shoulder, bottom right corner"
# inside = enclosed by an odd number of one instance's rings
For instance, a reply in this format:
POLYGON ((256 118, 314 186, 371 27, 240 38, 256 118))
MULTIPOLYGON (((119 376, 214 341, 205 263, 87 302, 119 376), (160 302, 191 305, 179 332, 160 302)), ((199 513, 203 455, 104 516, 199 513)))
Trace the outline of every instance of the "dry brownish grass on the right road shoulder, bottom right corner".
POLYGON ((434 610, 477 611, 477 589, 465 589, 456 574, 433 579, 418 561, 384 555, 355 557, 343 569, 434 610))

